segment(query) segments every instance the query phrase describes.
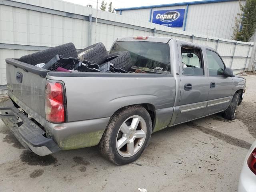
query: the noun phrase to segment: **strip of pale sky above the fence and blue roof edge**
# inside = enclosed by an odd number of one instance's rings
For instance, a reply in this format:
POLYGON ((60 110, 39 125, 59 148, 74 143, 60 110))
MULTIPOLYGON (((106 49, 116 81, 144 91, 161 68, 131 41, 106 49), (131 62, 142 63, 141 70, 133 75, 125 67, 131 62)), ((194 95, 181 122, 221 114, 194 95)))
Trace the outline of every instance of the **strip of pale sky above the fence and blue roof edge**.
MULTIPOLYGON (((93 8, 96 8, 97 0, 64 0, 75 4, 86 6, 92 4, 93 8)), ((109 4, 112 2, 112 8, 127 8, 127 7, 139 7, 148 5, 160 5, 160 4, 171 4, 178 2, 190 2, 195 0, 105 0, 109 4)), ((98 0, 98 6, 100 7, 102 0, 98 0)), ((108 6, 107 6, 108 8, 108 6)))

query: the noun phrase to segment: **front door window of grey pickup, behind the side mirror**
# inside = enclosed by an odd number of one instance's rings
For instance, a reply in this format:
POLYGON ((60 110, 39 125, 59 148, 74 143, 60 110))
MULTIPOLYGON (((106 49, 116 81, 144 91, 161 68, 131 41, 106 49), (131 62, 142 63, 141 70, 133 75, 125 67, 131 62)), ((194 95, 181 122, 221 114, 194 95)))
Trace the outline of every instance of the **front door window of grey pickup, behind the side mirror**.
POLYGON ((222 62, 220 56, 210 50, 206 50, 207 60, 208 60, 208 68, 210 76, 222 76, 225 71, 225 65, 222 62))

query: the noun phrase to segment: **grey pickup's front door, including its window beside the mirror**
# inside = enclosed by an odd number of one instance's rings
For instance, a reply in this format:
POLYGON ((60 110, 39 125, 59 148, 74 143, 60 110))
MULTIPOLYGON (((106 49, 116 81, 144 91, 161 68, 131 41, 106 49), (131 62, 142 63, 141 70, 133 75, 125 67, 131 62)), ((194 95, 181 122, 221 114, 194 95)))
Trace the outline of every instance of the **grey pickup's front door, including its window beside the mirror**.
POLYGON ((233 79, 223 75, 226 66, 218 53, 213 50, 206 50, 206 55, 210 89, 204 115, 225 110, 229 105, 233 90, 233 79))

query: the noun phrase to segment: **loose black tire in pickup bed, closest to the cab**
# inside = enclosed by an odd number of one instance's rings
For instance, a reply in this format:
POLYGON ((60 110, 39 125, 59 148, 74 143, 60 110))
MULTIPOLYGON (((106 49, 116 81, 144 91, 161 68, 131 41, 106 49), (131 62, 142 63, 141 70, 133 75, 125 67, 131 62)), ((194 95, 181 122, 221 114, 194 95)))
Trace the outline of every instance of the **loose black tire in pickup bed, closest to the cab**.
POLYGON ((116 68, 122 68, 123 70, 129 70, 132 67, 132 58, 128 51, 118 51, 109 54, 103 64, 107 62, 110 62, 114 64, 116 68))

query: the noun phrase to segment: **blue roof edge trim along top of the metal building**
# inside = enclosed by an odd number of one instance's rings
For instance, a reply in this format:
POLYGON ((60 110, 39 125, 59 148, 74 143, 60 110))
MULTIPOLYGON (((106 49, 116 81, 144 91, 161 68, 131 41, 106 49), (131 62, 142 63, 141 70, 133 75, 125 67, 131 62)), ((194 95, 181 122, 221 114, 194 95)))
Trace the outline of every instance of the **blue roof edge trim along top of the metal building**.
POLYGON ((116 11, 121 11, 121 10, 134 10, 134 9, 148 9, 148 8, 156 8, 156 7, 206 4, 206 3, 218 3, 218 2, 229 2, 229 1, 238 1, 238 0, 203 0, 203 1, 181 2, 181 3, 163 4, 163 5, 150 5, 150 6, 141 6, 141 7, 118 8, 118 9, 115 9, 115 10, 116 11))

